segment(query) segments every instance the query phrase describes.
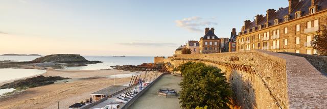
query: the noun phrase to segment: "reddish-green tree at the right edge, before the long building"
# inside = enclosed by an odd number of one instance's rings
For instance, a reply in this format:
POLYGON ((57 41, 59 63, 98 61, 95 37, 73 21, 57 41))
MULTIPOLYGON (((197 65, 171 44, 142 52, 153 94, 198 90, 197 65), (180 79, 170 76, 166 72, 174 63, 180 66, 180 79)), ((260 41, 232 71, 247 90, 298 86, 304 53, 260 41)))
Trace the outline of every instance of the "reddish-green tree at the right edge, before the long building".
POLYGON ((327 29, 326 26, 322 26, 319 32, 320 34, 314 36, 314 40, 311 41, 311 45, 317 50, 318 55, 327 56, 327 29))

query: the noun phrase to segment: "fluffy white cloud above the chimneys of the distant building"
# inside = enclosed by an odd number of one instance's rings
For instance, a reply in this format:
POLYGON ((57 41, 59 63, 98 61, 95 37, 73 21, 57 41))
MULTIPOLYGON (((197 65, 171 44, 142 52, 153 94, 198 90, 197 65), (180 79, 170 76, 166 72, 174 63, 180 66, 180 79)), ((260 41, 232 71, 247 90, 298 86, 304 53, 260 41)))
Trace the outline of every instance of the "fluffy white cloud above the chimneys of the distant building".
MULTIPOLYGON (((216 19, 216 17, 212 17, 210 19, 211 20, 216 19)), ((189 30, 191 32, 202 32, 204 26, 208 27, 218 24, 216 22, 204 20, 203 18, 197 16, 190 17, 190 18, 183 18, 182 20, 175 20, 175 23, 180 28, 189 30)))

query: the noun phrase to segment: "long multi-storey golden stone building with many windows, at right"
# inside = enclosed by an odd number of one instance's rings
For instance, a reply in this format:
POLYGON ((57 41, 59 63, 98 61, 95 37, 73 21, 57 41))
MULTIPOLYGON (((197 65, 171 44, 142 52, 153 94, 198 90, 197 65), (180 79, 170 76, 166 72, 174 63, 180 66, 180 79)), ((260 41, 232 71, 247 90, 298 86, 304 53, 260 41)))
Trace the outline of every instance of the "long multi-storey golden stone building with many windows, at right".
POLYGON ((315 54, 310 41, 327 22, 326 0, 288 0, 289 7, 269 9, 266 16, 245 20, 237 51, 263 49, 315 54))

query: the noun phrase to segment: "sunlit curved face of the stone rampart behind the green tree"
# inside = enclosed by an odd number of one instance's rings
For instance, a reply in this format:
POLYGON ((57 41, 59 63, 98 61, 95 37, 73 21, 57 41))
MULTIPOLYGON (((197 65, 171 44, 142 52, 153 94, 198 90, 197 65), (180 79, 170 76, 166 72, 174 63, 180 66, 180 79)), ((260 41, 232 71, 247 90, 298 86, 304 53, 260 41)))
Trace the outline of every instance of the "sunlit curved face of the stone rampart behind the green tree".
POLYGON ((186 62, 217 66, 226 74, 243 108, 288 108, 286 61, 259 51, 175 55, 174 67, 186 62))

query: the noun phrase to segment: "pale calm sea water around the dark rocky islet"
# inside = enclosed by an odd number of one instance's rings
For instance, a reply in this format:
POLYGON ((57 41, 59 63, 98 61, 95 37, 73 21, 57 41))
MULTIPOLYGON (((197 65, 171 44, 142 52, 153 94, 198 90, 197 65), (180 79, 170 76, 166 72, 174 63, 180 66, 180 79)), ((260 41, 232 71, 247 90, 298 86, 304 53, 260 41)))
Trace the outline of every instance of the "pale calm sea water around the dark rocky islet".
MULTIPOLYGON (((0 61, 11 60, 17 62, 32 61, 40 56, 0 56, 0 61)), ((153 63, 154 57, 112 57, 112 56, 83 56, 88 61, 102 61, 103 63, 89 64, 81 67, 67 67, 59 70, 99 70, 110 69, 115 65, 140 65, 143 63, 153 63)), ((24 77, 30 77, 45 73, 45 70, 37 69, 0 69, 0 83, 24 77)), ((0 95, 13 89, 0 89, 0 95)))

